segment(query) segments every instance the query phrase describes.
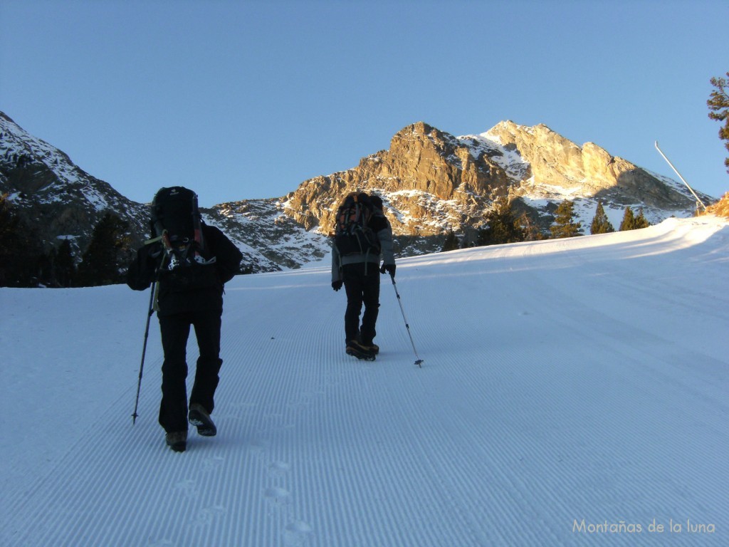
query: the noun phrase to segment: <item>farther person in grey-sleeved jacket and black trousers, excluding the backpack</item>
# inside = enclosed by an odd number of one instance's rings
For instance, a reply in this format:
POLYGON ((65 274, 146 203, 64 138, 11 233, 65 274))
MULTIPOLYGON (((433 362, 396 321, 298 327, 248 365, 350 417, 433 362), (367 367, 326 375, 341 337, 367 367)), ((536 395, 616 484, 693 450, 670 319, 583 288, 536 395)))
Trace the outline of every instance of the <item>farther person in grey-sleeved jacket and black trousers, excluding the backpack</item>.
POLYGON ((372 206, 367 224, 377 238, 374 252, 342 254, 332 245, 332 289, 338 291, 344 285, 347 308, 344 314, 346 352, 358 359, 375 360, 380 348, 374 343, 375 325, 380 307, 380 275, 395 275, 395 258, 392 249, 392 228, 383 212, 382 199, 378 195, 360 193, 372 206), (382 268, 380 260, 382 259, 382 268), (364 304, 364 314, 362 314, 364 304), (362 326, 359 315, 362 314, 362 326))

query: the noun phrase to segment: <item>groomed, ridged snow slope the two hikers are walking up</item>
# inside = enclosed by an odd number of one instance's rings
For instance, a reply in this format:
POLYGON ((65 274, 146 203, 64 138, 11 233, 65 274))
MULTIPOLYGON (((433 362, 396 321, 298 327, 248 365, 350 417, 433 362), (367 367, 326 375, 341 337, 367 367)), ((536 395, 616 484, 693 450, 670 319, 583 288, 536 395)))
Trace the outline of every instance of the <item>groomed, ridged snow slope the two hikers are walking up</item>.
POLYGON ((359 362, 326 265, 238 276, 184 454, 149 292, 1 289, 0 545, 729 545, 727 279, 715 217, 399 260, 418 368, 384 278, 359 362))

